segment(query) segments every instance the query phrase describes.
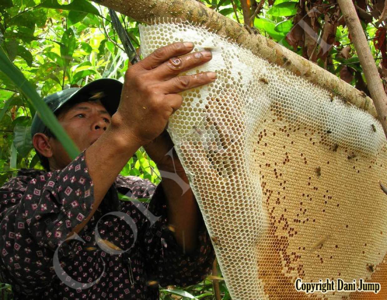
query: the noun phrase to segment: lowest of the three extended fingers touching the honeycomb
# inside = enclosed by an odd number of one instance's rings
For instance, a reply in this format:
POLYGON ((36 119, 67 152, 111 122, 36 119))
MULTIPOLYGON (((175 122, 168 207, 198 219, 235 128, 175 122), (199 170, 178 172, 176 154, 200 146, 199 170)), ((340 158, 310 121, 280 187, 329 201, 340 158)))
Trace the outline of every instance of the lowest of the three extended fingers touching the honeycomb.
POLYGON ((164 93, 180 93, 197 86, 214 82, 216 74, 214 72, 197 73, 195 75, 177 76, 164 81, 162 85, 164 93))

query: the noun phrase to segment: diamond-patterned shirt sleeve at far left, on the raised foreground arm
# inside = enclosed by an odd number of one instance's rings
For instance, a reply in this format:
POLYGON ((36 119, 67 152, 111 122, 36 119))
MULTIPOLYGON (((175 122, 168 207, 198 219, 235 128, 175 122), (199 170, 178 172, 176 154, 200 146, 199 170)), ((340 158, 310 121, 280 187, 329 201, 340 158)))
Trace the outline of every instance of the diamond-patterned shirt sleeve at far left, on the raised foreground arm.
MULTIPOLYGON (((0 188, 2 277, 23 293, 44 288, 55 276, 55 250, 90 214, 93 201, 84 152, 64 169, 24 183, 16 178, 0 188)), ((66 255, 65 245, 60 255, 66 255)))

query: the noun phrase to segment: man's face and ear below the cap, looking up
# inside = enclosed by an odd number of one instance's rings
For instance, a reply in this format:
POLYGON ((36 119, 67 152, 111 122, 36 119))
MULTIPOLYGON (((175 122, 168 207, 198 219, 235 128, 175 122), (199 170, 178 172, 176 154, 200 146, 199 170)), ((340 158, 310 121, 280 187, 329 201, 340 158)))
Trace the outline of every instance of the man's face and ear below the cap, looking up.
MULTIPOLYGON (((100 101, 80 102, 58 115, 58 121, 80 151, 94 143, 107 129, 111 116, 100 101)), ((49 139, 52 157, 48 158, 51 169, 64 168, 71 162, 62 144, 49 139)))

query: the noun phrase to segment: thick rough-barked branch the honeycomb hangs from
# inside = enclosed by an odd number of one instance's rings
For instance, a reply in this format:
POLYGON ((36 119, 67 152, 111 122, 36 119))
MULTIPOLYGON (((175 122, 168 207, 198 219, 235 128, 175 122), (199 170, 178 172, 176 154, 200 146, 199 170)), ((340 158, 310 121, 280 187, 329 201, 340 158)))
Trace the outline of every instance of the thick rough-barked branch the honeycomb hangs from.
POLYGON ((162 18, 178 18, 200 24, 219 35, 227 36, 239 46, 249 49, 253 54, 270 63, 277 64, 327 89, 328 93, 342 97, 377 117, 372 99, 364 96, 353 86, 271 39, 260 34, 250 34, 240 24, 200 2, 195 0, 126 0, 125 2, 99 0, 98 3, 147 24, 162 18))

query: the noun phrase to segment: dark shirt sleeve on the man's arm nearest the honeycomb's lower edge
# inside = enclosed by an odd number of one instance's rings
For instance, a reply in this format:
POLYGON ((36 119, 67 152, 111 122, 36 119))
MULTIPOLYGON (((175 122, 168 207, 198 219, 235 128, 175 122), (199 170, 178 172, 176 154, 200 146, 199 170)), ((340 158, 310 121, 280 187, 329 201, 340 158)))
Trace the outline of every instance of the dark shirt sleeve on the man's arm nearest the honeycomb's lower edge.
POLYGON ((149 211, 159 217, 144 226, 144 248, 148 274, 161 286, 187 286, 198 283, 210 273, 215 259, 207 229, 201 220, 198 233, 198 246, 190 254, 177 243, 175 236, 168 227, 166 197, 163 186, 159 184, 154 191, 149 211))

